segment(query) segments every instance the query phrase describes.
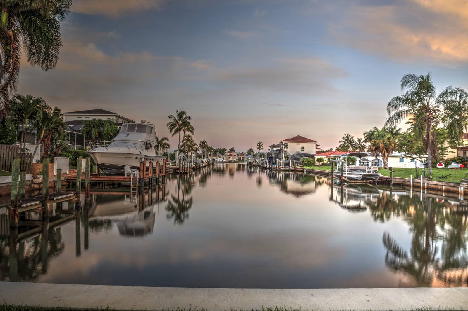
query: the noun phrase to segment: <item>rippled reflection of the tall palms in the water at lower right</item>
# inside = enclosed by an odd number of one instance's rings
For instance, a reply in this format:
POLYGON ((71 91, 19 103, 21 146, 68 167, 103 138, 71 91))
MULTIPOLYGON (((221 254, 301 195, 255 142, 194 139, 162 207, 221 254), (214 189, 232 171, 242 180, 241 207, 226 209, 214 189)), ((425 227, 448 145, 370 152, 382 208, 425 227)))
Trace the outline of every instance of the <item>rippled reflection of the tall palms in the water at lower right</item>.
POLYGON ((425 198, 423 202, 413 198, 412 201, 409 205, 395 206, 395 212, 411 226, 413 237, 409 252, 389 233, 384 233, 382 242, 387 249, 386 265, 411 276, 417 286, 431 286, 434 278, 446 285, 466 285, 467 215, 447 211, 446 206, 433 198, 425 198), (409 208, 396 211, 399 206, 409 208))

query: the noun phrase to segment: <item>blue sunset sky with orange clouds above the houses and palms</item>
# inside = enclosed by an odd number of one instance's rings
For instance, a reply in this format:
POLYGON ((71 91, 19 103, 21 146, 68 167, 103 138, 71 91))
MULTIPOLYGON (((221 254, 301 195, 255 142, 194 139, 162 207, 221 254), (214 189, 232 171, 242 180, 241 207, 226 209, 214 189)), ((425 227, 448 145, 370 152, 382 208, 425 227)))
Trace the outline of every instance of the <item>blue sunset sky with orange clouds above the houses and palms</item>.
POLYGON ((382 127, 405 74, 468 90, 466 0, 74 0, 61 28, 56 68, 23 61, 18 92, 147 120, 171 149, 176 109, 214 148, 328 149, 382 127))

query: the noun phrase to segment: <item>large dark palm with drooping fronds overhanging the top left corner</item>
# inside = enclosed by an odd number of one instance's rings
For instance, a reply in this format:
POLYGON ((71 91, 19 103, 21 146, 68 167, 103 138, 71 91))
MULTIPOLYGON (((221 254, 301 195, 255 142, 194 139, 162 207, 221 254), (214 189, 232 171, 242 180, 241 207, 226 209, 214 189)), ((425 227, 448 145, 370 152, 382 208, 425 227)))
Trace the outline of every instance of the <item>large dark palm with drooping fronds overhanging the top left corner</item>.
POLYGON ((21 52, 44 71, 57 64, 62 46, 60 21, 71 6, 72 0, 1 1, 0 120, 9 113, 9 94, 18 83, 21 52))

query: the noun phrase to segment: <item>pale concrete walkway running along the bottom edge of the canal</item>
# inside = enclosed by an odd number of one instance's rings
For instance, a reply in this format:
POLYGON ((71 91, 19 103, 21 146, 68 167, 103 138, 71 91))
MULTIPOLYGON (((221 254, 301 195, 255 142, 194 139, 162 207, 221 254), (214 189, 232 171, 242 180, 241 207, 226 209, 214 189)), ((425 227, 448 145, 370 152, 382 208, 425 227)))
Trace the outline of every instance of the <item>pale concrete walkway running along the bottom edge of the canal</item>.
POLYGON ((117 310, 252 310, 282 306, 308 310, 467 310, 468 288, 227 289, 0 282, 8 304, 117 310))

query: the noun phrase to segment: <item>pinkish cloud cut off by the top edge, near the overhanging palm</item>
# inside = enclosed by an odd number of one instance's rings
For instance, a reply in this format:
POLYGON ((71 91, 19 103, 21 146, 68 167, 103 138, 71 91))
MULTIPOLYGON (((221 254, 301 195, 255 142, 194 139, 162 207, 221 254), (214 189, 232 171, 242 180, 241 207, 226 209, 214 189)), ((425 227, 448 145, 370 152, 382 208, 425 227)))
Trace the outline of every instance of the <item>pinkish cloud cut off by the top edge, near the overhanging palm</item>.
POLYGON ((75 0, 72 11, 81 14, 117 17, 129 12, 161 9, 167 0, 75 0))

